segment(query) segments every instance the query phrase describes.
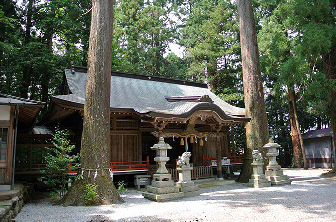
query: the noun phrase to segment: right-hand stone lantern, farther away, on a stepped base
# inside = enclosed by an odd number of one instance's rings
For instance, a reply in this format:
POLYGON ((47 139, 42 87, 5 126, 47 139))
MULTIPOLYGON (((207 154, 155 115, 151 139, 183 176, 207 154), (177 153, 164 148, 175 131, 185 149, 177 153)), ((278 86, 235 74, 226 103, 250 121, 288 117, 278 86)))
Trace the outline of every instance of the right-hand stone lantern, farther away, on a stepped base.
POLYGON ((267 149, 268 153, 266 155, 269 157, 269 164, 266 166, 267 170, 265 171, 266 178, 268 178, 272 185, 291 185, 292 180, 284 175, 284 171, 276 160, 276 157, 279 156, 277 148, 280 145, 275 143, 271 138, 263 147, 267 149))

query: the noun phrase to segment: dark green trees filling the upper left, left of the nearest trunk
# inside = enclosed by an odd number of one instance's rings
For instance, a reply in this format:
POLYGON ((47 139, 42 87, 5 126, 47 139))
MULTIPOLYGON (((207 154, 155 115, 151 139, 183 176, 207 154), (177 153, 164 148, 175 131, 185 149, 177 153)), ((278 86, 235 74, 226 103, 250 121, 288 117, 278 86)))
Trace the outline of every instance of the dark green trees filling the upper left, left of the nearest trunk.
POLYGON ((89 0, 6 1, 0 11, 0 88, 47 102, 69 61, 87 65, 89 0), (20 5, 16 5, 20 3, 20 5))

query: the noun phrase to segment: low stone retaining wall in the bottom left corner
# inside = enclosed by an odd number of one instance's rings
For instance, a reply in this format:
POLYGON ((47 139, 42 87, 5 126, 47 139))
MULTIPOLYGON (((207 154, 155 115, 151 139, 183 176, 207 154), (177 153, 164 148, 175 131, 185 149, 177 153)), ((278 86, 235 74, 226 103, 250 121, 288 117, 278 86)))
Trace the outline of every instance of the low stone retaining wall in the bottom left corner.
POLYGON ((33 196, 33 187, 23 186, 16 196, 0 201, 0 221, 11 222, 24 204, 33 196))

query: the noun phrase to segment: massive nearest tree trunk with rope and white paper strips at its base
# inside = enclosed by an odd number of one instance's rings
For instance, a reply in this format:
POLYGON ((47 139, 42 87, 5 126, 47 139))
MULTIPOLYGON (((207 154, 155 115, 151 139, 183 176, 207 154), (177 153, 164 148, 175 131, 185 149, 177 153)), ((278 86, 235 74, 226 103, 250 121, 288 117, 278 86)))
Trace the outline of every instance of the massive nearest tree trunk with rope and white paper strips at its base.
POLYGON ((63 206, 84 205, 85 185, 90 183, 98 185, 99 199, 96 204, 123 202, 108 170, 113 0, 95 0, 92 4, 79 169, 83 169, 83 179, 76 180, 71 186, 60 201, 63 206), (97 171, 95 178, 93 174, 96 169, 101 170, 97 171))

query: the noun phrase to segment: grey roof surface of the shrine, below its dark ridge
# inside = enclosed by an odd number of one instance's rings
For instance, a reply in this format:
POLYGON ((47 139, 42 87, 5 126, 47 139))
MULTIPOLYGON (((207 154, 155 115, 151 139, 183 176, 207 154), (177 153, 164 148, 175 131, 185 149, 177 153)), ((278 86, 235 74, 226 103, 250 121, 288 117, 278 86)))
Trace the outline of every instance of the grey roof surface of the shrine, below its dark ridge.
MULTIPOLYGON (((59 103, 67 101, 84 105, 86 76, 86 72, 65 70, 67 84, 72 94, 53 96, 53 100, 59 103)), ((244 122, 247 121, 242 118, 245 117, 245 109, 224 102, 203 83, 112 71, 110 98, 111 111, 134 110, 139 115, 147 114, 151 117, 153 113, 157 116, 177 116, 195 110, 212 109, 222 112, 226 119, 239 118, 244 122), (209 95, 213 103, 169 102, 165 98, 204 95, 209 95)))

